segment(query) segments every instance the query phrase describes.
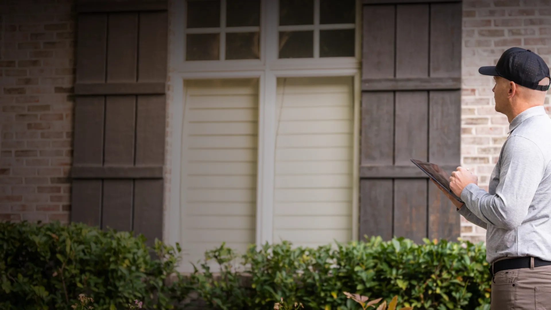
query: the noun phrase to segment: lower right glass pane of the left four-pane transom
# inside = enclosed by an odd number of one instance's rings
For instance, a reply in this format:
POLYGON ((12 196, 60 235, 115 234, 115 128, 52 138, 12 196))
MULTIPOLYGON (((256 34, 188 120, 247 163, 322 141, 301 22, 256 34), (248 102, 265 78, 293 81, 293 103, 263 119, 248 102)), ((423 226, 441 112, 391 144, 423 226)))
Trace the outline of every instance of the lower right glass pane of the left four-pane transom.
POLYGON ((226 59, 260 59, 259 34, 226 34, 226 59))

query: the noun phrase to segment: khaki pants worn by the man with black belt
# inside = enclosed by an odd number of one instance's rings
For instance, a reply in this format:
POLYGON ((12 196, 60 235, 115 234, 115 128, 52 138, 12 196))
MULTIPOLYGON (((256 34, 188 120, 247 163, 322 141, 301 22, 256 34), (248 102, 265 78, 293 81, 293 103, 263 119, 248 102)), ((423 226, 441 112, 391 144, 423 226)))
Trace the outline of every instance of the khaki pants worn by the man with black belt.
POLYGON ((551 265, 496 273, 490 309, 551 310, 551 265))

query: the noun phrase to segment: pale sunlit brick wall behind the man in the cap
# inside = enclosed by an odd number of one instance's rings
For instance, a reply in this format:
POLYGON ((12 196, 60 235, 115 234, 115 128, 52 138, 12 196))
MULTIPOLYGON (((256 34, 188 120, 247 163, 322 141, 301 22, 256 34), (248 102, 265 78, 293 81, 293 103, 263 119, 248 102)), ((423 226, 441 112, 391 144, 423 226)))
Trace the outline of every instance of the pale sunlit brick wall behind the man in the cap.
MULTIPOLYGON (((494 65, 513 46, 537 52, 551 65, 551 0, 463 0, 462 165, 486 190, 509 122, 494 110, 493 78, 478 68, 494 65)), ((549 97, 545 106, 551 113, 549 97)), ((461 232, 465 239, 485 240, 485 230, 464 218, 461 232)))

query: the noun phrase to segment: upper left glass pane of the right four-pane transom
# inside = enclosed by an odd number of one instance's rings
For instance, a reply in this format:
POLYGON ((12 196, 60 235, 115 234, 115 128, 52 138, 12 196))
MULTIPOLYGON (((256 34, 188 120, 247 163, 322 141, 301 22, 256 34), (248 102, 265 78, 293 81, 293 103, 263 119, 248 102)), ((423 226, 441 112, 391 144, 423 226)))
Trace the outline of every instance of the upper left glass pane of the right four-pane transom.
POLYGON ((279 25, 313 25, 314 0, 279 0, 279 25))

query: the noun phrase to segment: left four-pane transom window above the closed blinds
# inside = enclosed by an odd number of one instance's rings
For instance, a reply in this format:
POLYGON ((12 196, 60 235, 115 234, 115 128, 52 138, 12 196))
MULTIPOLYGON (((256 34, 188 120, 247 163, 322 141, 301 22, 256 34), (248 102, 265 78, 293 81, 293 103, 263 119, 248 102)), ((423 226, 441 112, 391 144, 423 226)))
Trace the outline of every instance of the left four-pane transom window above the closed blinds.
POLYGON ((189 0, 186 61, 260 59, 260 0, 189 0))

